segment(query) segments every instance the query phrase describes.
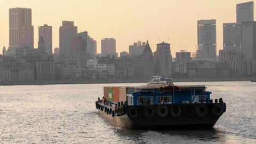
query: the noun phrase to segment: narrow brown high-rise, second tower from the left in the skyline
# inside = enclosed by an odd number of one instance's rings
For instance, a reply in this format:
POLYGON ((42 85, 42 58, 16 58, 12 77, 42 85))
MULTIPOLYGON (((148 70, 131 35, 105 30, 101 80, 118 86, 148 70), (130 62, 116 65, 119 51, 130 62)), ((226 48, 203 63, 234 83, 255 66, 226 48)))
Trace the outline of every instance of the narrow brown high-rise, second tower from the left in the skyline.
POLYGON ((44 39, 45 52, 52 54, 52 26, 39 26, 38 37, 40 36, 44 39))

